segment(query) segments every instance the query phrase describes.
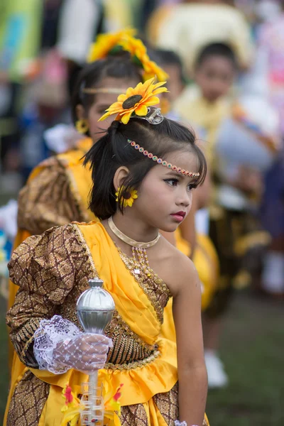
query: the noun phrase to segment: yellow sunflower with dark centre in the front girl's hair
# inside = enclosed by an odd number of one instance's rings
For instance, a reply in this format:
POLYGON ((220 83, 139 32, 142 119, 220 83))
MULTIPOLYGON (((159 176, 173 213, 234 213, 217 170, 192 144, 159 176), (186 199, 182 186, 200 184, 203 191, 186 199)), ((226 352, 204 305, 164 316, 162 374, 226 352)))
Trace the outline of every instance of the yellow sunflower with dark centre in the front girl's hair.
POLYGON ((107 119, 112 114, 118 114, 116 121, 121 121, 127 124, 132 114, 136 116, 146 116, 148 107, 153 107, 160 102, 160 99, 155 96, 159 93, 168 92, 166 87, 160 87, 165 82, 153 84, 155 78, 147 80, 145 83, 138 83, 136 87, 129 87, 125 94, 120 94, 117 102, 114 102, 99 121, 107 119))

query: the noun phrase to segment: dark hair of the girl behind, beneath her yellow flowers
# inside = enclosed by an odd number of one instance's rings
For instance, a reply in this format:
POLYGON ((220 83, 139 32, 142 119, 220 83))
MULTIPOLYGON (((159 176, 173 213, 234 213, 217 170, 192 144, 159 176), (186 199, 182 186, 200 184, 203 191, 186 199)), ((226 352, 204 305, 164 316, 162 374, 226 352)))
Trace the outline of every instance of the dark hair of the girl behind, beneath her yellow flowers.
POLYGON ((142 69, 131 61, 128 52, 121 52, 119 55, 107 56, 107 58, 96 60, 85 65, 80 71, 75 89, 72 92, 71 112, 72 121, 77 121, 76 107, 81 104, 86 111, 92 107, 95 94, 87 94, 83 89, 97 87, 106 77, 123 78, 126 80, 142 81, 142 69))

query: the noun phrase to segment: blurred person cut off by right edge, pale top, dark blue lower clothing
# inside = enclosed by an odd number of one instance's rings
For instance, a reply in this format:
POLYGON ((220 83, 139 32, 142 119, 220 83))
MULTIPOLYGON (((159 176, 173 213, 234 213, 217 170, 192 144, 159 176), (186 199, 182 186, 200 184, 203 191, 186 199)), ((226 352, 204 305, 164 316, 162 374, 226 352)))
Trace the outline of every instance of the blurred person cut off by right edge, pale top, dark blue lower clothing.
POLYGON ((272 295, 284 295, 284 3, 260 1, 258 16, 258 62, 266 96, 280 116, 282 145, 266 175, 262 219, 272 236, 264 261, 262 286, 272 295))

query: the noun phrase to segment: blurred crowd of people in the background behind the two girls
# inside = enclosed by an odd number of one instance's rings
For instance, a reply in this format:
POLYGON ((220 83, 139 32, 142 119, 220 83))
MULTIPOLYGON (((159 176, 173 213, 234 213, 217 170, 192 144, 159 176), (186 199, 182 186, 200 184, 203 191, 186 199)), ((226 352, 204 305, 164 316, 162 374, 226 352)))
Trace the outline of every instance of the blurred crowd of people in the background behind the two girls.
MULTIPOLYGON (((126 27, 169 75, 163 114, 192 126, 207 152, 209 200, 199 200, 195 221, 220 261, 208 317, 224 312, 234 288, 283 296, 283 1, 1 0, 0 195, 16 194, 35 165, 75 146, 70 102, 89 46, 126 27)), ((14 200, 0 208, 1 265, 16 214, 14 200)), ((219 325, 210 324, 214 340, 219 325)), ((221 370, 217 386, 226 383, 221 370)))

